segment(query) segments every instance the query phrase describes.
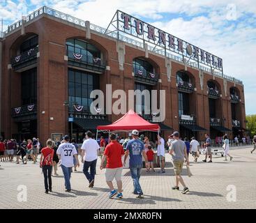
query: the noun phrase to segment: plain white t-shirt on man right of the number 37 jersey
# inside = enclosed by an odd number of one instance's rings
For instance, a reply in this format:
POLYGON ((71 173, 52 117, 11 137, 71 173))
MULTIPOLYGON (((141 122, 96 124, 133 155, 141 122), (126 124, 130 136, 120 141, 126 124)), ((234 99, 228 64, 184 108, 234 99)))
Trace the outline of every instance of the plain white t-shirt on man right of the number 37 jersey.
POLYGON ((85 151, 84 161, 91 162, 98 159, 98 149, 100 146, 95 139, 84 140, 81 149, 85 151))

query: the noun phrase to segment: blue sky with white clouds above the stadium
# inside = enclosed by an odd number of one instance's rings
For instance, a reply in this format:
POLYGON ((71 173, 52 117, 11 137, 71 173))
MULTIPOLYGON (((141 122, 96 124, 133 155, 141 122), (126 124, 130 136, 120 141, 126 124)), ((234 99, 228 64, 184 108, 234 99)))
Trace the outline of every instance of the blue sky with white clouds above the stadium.
POLYGON ((246 114, 256 114, 255 0, 0 0, 3 30, 41 6, 107 27, 116 9, 140 17, 223 58, 225 75, 243 81, 246 114))

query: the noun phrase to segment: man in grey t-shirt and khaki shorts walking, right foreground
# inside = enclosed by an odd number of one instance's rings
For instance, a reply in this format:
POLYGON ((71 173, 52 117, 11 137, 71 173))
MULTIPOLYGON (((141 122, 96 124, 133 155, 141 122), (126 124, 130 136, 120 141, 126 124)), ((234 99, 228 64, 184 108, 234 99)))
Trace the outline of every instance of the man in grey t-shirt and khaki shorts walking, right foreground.
POLYGON ((179 132, 174 132, 173 136, 175 140, 171 144, 171 149, 169 153, 170 155, 172 155, 172 160, 174 164, 176 185, 175 187, 172 187, 172 190, 179 190, 179 183, 181 183, 181 185, 183 185, 184 187, 182 194, 186 194, 189 190, 186 184, 184 183, 183 178, 181 177, 181 171, 183 167, 184 157, 186 159, 187 165, 189 165, 187 148, 184 141, 181 141, 181 139, 179 139, 179 132))

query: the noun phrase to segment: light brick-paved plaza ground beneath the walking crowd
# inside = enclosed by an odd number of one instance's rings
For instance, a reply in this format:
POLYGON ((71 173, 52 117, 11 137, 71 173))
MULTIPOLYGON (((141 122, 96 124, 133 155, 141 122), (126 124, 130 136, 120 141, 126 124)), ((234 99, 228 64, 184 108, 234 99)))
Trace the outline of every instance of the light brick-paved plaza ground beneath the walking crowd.
POLYGON ((128 169, 123 169, 123 199, 108 199, 109 189, 105 183, 105 170, 99 168, 100 158, 92 189, 88 187, 80 166, 72 174, 73 192, 64 192, 64 179, 59 167, 59 176, 52 178, 53 192, 50 194, 45 194, 39 164, 1 162, 0 208, 256 208, 256 152, 251 154, 250 148, 232 148, 230 153, 234 160, 231 162, 225 162, 220 155, 213 155, 213 163, 202 162, 203 155, 197 163, 190 157, 191 178, 186 176, 186 167, 183 167, 184 180, 190 189, 188 194, 171 189, 174 171, 171 157, 167 154, 165 174, 157 171, 146 173, 143 169, 140 182, 144 199, 136 199, 132 194, 133 181, 128 169), (27 186, 26 202, 17 200, 19 185, 27 186), (230 193, 233 194, 231 201, 230 193))

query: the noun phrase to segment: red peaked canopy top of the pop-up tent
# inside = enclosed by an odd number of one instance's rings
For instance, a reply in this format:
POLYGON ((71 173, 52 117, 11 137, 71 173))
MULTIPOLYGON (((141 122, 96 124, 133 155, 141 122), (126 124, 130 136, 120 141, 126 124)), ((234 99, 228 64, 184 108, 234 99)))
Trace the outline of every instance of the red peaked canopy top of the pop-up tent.
POLYGON ((115 121, 111 125, 98 125, 98 130, 104 131, 128 131, 128 130, 139 130, 139 131, 154 131, 158 132, 160 127, 158 124, 152 124, 146 121, 144 118, 139 116, 136 112, 130 109, 123 117, 115 121))

